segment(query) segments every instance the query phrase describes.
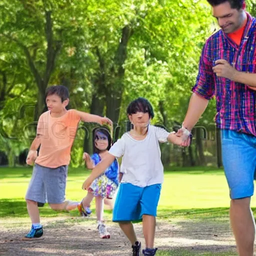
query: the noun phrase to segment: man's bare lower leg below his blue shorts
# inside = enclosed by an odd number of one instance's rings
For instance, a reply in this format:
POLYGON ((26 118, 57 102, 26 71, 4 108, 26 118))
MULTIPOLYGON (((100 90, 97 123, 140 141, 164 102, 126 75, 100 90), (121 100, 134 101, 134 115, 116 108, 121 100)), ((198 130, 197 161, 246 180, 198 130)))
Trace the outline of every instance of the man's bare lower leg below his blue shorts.
POLYGON ((253 256, 255 223, 250 209, 250 197, 232 199, 230 222, 240 256, 253 256))

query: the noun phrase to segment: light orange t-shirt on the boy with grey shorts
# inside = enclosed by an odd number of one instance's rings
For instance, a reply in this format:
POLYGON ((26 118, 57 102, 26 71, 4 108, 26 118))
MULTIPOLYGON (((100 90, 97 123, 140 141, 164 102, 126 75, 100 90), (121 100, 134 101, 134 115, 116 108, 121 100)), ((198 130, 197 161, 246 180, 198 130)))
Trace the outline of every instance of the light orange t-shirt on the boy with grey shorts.
POLYGON ((52 117, 50 110, 42 113, 37 123, 41 145, 35 163, 49 168, 68 165, 79 121, 75 109, 67 110, 60 117, 52 117))

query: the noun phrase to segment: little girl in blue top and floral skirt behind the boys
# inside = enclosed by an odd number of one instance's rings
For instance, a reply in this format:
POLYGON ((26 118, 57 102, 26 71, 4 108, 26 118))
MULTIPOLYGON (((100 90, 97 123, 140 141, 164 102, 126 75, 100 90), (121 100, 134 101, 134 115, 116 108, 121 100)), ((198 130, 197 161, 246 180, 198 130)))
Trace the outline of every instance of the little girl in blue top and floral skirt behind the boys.
MULTIPOLYGON (((85 160, 86 167, 88 169, 94 168, 96 164, 104 158, 104 155, 108 152, 111 146, 111 135, 106 128, 96 128, 93 136, 93 154, 89 156, 88 153, 83 153, 83 159, 85 160)), ((118 162, 115 159, 112 164, 97 177, 90 185, 87 195, 78 204, 78 210, 80 215, 87 216, 90 214, 90 202, 95 197, 95 207, 97 216, 97 229, 101 238, 110 238, 110 234, 103 223, 103 200, 104 198, 113 198, 116 189, 119 185, 118 178, 118 162)))

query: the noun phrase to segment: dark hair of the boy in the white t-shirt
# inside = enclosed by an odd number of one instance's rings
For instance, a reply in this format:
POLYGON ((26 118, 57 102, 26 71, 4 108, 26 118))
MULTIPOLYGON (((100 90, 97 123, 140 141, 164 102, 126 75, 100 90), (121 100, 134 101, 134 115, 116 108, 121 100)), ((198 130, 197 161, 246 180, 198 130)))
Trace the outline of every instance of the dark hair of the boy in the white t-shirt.
POLYGON ((136 112, 148 113, 151 119, 154 117, 153 107, 146 98, 139 97, 128 104, 127 115, 135 114, 136 112))

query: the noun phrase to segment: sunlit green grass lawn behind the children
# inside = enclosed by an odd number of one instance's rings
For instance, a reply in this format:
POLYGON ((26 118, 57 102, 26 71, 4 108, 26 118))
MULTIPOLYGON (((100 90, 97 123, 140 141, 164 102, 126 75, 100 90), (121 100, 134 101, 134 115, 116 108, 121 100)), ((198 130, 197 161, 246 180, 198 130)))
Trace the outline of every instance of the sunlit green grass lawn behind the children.
MULTIPOLYGON (((0 223, 27 222, 28 214, 24 195, 30 180, 32 168, 0 168, 0 223)), ((66 198, 81 200, 85 195, 81 189, 89 171, 84 168, 69 168, 66 198)), ((255 211, 256 200, 251 205, 255 211)), ((158 204, 158 219, 178 223, 184 219, 192 221, 227 221, 229 196, 223 170, 212 167, 171 168, 164 173, 161 196, 158 204)), ((94 210, 94 205, 92 204, 94 210)), ((55 212, 48 205, 40 208, 40 216, 78 216, 77 211, 70 213, 55 212)), ((111 211, 105 212, 110 220, 111 211)), ((76 218, 67 221, 78 221, 76 218)), ((205 255, 232 256, 233 252, 193 252, 189 249, 159 251, 158 255, 205 255), (194 253, 194 254, 193 254, 194 253)))

